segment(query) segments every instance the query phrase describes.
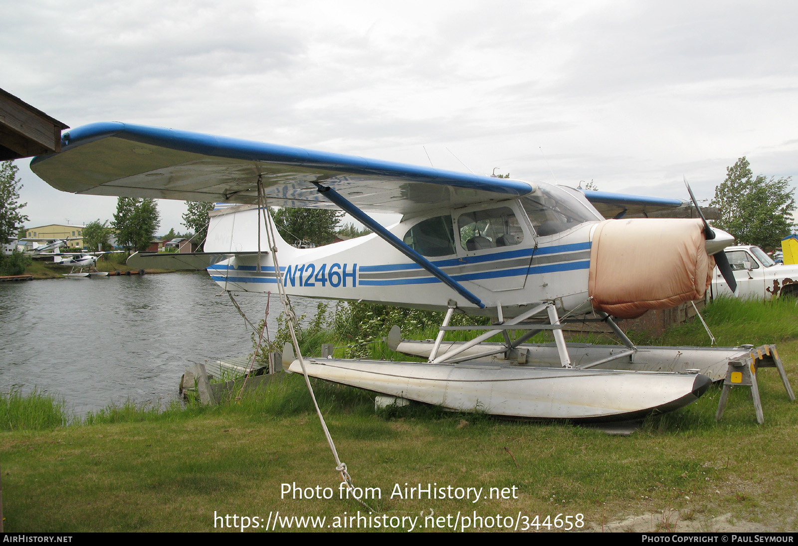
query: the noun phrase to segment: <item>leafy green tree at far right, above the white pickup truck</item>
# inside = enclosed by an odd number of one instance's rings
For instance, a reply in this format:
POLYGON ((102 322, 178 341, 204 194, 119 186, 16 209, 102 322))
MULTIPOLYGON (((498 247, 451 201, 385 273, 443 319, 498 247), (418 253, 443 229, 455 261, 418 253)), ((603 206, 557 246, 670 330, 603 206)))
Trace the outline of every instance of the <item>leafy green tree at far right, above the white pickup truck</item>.
POLYGON ((796 203, 791 177, 753 176, 745 156, 726 168, 726 179, 710 203, 720 211, 713 225, 729 231, 738 244, 776 248, 792 231, 796 203))

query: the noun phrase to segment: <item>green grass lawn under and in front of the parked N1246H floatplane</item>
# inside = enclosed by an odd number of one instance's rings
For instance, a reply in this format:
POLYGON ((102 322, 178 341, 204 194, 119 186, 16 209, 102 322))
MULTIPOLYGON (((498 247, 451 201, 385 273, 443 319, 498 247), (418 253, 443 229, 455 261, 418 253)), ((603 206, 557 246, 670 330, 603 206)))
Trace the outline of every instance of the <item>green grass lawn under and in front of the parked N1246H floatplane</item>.
MULTIPOLYGON (((719 302, 705 318, 723 344, 778 342, 798 386, 798 317, 786 304, 757 305, 764 310, 719 302)), ((679 328, 658 341, 702 344, 703 328, 693 328, 700 331, 679 328)), ((372 394, 319 381, 314 389, 355 485, 381 491, 368 501, 379 514, 582 513, 600 528, 657 512, 662 530, 672 530, 678 521, 731 512, 762 528, 795 529, 798 404, 776 370, 761 370, 759 381, 764 425, 744 389, 732 391, 715 421, 720 389, 713 387, 690 406, 649 417, 630 437, 424 405, 374 413, 372 394), (517 498, 390 498, 405 483, 485 493, 516 487, 517 498)), ((0 432, 6 531, 205 531, 214 529, 215 512, 333 518, 364 510, 338 498, 333 457, 296 374, 240 402, 127 405, 77 421, 54 398, 35 394, 29 406, 25 398, 0 399, 0 417, 10 423, 0 432), (40 406, 48 403, 61 413, 45 417, 40 406), (41 417, 29 419, 26 408, 41 417), (282 484, 329 487, 334 497, 281 498, 282 484)))

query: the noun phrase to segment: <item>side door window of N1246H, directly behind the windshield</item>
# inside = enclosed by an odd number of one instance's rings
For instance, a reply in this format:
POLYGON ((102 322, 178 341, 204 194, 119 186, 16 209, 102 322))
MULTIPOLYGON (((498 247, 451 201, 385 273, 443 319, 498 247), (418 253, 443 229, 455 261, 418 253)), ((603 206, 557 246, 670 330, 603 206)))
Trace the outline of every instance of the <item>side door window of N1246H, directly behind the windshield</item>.
POLYGON ((512 208, 466 212, 457 219, 460 245, 467 251, 510 247, 523 241, 523 231, 512 208))

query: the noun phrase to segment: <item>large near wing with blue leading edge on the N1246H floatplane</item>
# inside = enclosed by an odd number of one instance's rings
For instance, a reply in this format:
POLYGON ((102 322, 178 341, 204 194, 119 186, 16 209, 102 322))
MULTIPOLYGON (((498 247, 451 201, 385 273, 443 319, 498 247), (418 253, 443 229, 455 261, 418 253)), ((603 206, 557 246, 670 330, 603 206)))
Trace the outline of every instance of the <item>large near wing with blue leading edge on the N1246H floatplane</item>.
POLYGON ((363 211, 423 212, 523 196, 533 186, 358 156, 119 122, 62 136, 61 152, 30 168, 54 188, 101 196, 257 204, 262 177, 270 204, 335 208, 322 182, 363 211))

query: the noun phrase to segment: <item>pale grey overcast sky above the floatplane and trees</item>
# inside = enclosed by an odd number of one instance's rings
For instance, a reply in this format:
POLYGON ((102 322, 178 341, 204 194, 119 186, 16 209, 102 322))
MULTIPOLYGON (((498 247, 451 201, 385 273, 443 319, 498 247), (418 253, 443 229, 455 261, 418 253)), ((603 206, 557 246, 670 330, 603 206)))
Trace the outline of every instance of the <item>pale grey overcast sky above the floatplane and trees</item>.
MULTIPOLYGON (((0 2, 0 87, 125 121, 686 198, 798 174, 796 2, 0 2), (429 154, 429 159, 428 159, 429 154), (468 165, 468 168, 464 165, 468 165)), ((19 160, 29 227, 110 220, 19 160)), ((183 230, 160 201, 160 233, 183 230)))

